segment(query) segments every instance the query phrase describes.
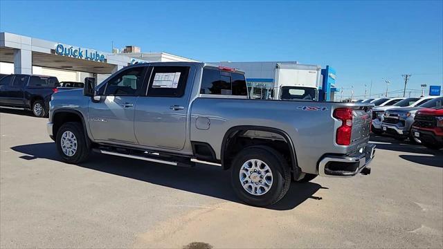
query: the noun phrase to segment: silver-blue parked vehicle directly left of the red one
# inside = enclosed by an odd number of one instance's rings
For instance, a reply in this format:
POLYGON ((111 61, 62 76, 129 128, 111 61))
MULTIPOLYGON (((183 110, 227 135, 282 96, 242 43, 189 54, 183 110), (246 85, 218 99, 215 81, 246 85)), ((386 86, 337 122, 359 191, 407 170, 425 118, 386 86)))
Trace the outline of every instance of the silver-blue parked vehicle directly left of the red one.
POLYGON ((414 122, 415 113, 419 109, 441 107, 443 97, 432 98, 418 107, 399 107, 385 111, 381 127, 383 131, 393 135, 399 140, 410 138, 411 142, 416 141, 410 129, 414 122))

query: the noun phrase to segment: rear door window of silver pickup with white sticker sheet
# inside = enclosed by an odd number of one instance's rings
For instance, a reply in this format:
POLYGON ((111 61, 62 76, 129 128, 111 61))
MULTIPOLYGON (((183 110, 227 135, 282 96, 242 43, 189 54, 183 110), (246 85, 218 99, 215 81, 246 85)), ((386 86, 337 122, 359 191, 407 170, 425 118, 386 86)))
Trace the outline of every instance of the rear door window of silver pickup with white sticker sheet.
POLYGON ((185 93, 189 66, 154 66, 147 96, 180 98, 185 93))

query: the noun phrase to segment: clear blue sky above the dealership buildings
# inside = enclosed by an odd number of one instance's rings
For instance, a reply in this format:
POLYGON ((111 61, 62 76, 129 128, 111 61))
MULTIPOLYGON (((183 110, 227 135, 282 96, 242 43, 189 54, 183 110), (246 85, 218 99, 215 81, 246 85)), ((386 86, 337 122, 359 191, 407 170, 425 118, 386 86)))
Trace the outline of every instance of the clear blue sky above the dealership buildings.
MULTIPOLYGON (((125 45, 204 62, 331 65, 364 93, 443 82, 442 1, 0 1, 0 30, 103 51, 125 45), (368 90, 369 91, 369 90, 368 90)), ((350 95, 345 90, 344 95, 350 95)))

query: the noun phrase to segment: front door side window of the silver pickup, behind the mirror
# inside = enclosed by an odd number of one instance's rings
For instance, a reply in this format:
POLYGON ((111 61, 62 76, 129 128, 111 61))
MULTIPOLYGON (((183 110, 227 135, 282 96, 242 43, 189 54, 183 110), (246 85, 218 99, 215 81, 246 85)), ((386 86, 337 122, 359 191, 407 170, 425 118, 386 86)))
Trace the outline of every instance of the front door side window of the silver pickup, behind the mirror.
POLYGON ((141 93, 146 68, 143 66, 129 68, 106 84, 105 95, 129 95, 134 96, 141 93))

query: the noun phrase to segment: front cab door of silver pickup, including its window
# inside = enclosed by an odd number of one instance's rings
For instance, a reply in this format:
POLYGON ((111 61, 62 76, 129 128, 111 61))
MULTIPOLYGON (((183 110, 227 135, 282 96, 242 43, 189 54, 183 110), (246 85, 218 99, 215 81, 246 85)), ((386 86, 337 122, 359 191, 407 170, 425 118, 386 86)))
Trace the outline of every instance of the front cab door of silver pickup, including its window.
POLYGON ((109 79, 89 101, 89 129, 95 140, 137 144, 134 109, 143 93, 147 67, 127 68, 109 79))

